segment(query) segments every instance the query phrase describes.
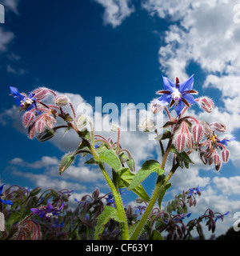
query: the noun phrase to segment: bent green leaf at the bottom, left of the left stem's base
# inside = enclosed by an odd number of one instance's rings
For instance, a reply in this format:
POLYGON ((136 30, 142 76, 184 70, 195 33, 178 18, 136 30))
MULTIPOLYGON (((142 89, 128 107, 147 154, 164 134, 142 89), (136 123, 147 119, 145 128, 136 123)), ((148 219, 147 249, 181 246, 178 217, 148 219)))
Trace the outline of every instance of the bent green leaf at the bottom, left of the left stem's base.
POLYGON ((111 206, 105 206, 102 214, 98 216, 97 225, 94 233, 94 240, 99 238, 99 235, 102 234, 104 226, 109 222, 110 218, 114 219, 116 222, 123 223, 118 217, 118 210, 111 206))

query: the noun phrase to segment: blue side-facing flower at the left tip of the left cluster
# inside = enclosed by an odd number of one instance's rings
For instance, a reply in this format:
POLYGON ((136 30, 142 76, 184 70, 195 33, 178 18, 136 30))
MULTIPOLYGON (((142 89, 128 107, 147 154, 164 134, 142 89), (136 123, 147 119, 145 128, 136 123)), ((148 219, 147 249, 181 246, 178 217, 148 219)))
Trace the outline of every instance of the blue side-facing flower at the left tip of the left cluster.
POLYGON ((14 96, 15 102, 20 106, 19 111, 21 110, 32 110, 34 107, 37 110, 36 101, 38 98, 35 98, 35 94, 30 92, 28 95, 20 94, 16 87, 10 86, 11 95, 14 96))

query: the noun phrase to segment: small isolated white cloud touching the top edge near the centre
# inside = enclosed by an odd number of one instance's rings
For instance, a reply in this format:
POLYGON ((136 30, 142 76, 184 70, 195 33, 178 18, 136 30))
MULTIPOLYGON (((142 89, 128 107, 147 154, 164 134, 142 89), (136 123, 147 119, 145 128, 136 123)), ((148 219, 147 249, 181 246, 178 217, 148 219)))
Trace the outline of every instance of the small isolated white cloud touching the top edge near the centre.
POLYGON ((123 20, 134 12, 134 6, 131 0, 94 0, 101 4, 105 10, 103 14, 104 24, 110 24, 113 27, 122 24, 123 20))

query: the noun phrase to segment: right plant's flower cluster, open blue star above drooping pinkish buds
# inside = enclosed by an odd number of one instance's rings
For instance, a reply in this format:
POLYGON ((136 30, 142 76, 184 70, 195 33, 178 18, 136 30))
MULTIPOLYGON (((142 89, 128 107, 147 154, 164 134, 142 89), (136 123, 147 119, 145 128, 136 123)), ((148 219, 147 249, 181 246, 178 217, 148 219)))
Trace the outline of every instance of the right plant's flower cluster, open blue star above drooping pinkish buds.
MULTIPOLYGON (((188 154, 192 151, 198 150, 199 157, 204 164, 211 165, 214 163, 215 169, 220 170, 222 162, 226 163, 230 156, 230 151, 226 149, 227 142, 234 141, 235 137, 218 138, 218 132, 224 133, 226 126, 222 122, 207 123, 205 121, 198 121, 197 118, 192 116, 184 116, 186 110, 193 104, 197 105, 210 113, 214 108, 214 102, 208 97, 201 97, 194 99, 192 94, 197 94, 196 90, 193 90, 194 77, 193 75, 186 82, 179 82, 176 78, 176 82, 172 82, 169 78, 163 78, 164 90, 159 90, 157 94, 163 94, 160 98, 154 100, 151 105, 151 110, 154 113, 158 113, 160 110, 166 110, 169 121, 163 126, 163 128, 171 127, 171 138, 174 147, 179 153, 186 151, 188 154), (177 118, 171 117, 168 108, 174 106, 174 110, 177 113, 177 118), (218 154, 218 150, 222 151, 222 160, 218 154)), ((152 121, 153 122, 153 121, 152 121)), ((151 123, 150 127, 154 127, 151 120, 147 123, 151 123)), ((143 131, 154 130, 154 128, 148 128, 143 131)))

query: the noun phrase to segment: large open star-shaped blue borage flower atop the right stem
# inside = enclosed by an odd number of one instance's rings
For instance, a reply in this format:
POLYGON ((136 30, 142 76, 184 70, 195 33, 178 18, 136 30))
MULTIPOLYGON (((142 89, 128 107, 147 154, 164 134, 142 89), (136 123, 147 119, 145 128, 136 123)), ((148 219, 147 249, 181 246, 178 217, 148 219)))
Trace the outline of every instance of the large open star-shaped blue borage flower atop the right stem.
POLYGON ((190 104, 197 103, 192 94, 198 94, 196 90, 193 90, 194 75, 192 75, 186 82, 179 82, 176 78, 176 82, 171 81, 169 78, 163 77, 164 90, 159 90, 157 94, 163 94, 160 98, 154 100, 154 104, 160 106, 167 106, 170 104, 174 106, 174 110, 179 115, 181 114, 184 106, 190 106, 190 104))

